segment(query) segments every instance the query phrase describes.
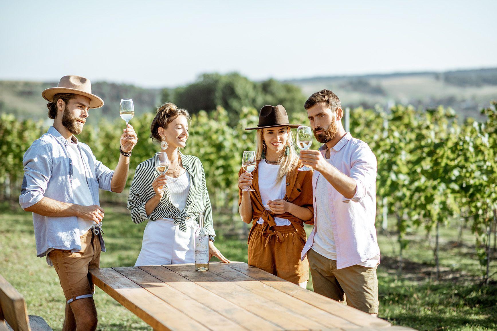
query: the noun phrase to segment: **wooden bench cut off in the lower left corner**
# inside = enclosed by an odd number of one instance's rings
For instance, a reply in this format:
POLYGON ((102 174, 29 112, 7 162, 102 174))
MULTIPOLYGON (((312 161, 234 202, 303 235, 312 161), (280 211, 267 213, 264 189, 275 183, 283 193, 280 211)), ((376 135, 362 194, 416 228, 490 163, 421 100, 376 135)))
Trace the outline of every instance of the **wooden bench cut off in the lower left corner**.
POLYGON ((28 316, 22 295, 0 275, 0 331, 52 331, 39 316, 28 316))

